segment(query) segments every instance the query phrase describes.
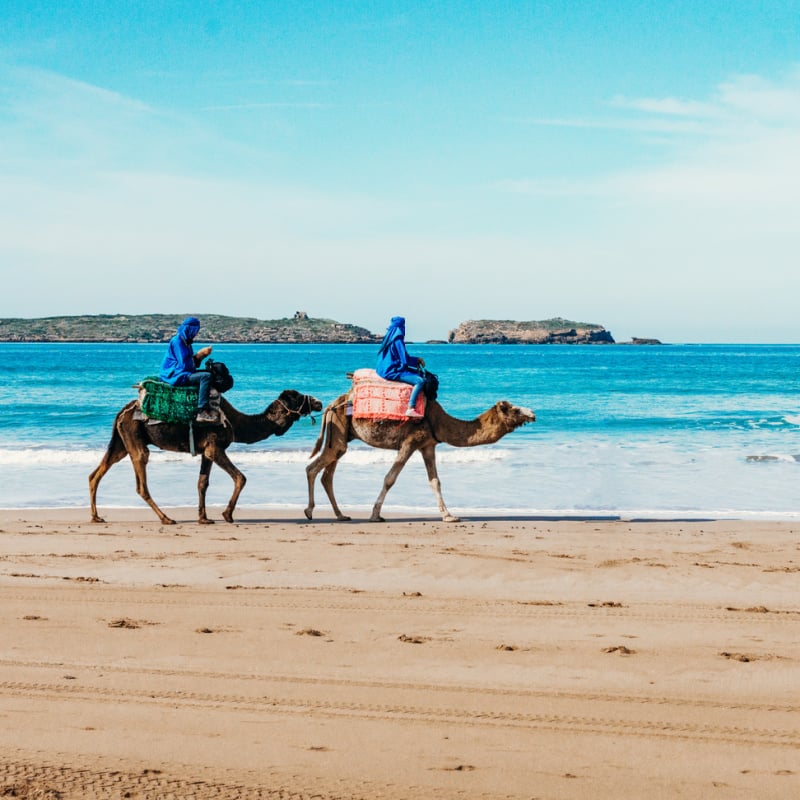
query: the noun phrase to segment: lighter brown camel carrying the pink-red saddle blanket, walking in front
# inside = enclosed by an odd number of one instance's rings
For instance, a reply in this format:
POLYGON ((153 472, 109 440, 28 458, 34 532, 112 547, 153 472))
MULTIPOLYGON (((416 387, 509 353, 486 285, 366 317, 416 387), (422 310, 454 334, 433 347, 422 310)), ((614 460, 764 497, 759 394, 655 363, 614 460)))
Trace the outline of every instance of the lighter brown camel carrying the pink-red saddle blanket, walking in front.
POLYGON ((353 419, 347 414, 349 395, 342 395, 326 409, 322 418, 322 430, 317 443, 311 452, 315 458, 306 467, 308 477, 308 507, 305 514, 308 519, 314 511, 314 482, 322 472, 322 486, 331 501, 333 511, 340 520, 348 520, 336 503, 333 494, 333 474, 339 459, 347 451, 347 444, 353 439, 360 439, 371 447, 384 450, 397 450, 397 457, 392 468, 383 479, 383 489, 372 507, 371 522, 383 522, 381 506, 386 494, 392 488, 400 471, 417 450, 422 454, 428 481, 436 495, 439 511, 445 522, 458 522, 444 504, 439 475, 436 471, 436 445, 439 442, 454 447, 474 447, 479 444, 491 444, 507 433, 533 422, 536 415, 529 408, 513 406, 506 400, 495 403, 474 420, 461 420, 451 417, 435 400, 427 401, 425 418, 419 422, 411 420, 372 420, 353 419), (324 440, 324 446, 323 446, 324 440))

